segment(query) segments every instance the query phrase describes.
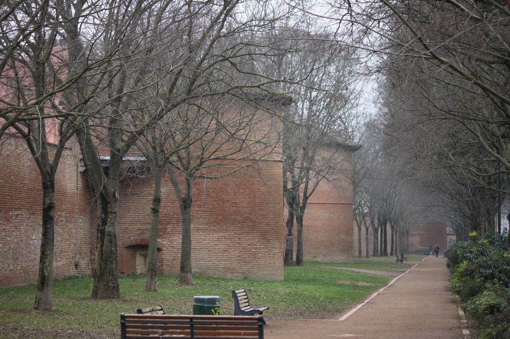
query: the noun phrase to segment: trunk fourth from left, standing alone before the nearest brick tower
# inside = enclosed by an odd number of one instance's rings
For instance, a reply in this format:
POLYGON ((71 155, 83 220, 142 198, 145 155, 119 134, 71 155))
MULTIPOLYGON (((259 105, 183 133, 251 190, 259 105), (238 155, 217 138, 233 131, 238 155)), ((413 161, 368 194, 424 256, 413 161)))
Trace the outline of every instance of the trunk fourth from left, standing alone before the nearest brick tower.
POLYGON ((182 237, 181 237, 181 270, 179 284, 193 285, 191 271, 191 202, 183 199, 181 205, 182 237))

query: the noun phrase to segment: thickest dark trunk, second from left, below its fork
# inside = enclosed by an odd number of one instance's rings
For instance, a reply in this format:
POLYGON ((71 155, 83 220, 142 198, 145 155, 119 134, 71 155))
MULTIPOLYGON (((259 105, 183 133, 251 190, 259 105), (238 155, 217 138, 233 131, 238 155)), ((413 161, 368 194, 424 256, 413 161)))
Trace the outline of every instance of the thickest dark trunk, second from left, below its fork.
POLYGON ((108 201, 103 193, 96 199, 96 263, 92 298, 120 298, 117 267, 117 199, 108 201))

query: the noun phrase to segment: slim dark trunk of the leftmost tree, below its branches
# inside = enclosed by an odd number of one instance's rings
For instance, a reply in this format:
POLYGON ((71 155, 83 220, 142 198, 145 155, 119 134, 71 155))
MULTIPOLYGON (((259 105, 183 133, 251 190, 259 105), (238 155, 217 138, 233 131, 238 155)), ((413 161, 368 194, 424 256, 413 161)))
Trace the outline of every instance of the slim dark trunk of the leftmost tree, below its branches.
POLYGON ((34 308, 52 309, 53 256, 55 243, 55 179, 42 183, 42 234, 39 256, 39 274, 34 308))

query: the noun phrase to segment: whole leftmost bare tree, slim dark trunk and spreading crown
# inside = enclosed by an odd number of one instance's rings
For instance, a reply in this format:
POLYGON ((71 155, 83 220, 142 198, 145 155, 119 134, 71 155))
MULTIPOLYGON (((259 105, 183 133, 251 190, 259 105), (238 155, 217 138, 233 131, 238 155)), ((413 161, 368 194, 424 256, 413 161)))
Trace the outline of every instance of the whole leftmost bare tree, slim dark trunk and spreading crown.
POLYGON ((22 136, 42 180, 42 236, 35 308, 52 307, 55 179, 66 143, 113 53, 94 43, 105 27, 87 27, 101 4, 81 1, 0 5, 0 137, 22 136), (87 31, 83 34, 83 31, 87 31))

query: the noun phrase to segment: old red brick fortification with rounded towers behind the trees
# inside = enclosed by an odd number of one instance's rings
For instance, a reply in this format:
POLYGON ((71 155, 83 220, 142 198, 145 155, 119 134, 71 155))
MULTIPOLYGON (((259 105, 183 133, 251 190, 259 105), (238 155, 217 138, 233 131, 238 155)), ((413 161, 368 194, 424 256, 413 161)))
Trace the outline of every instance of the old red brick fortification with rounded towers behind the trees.
MULTIPOLYGON (((348 171, 353 149, 339 147, 346 171, 324 181, 305 216, 305 260, 352 258, 352 188, 348 171)), ((281 150, 256 166, 218 180, 197 180, 192 207, 194 274, 230 278, 283 279, 286 239, 281 150)), ((94 267, 96 211, 79 148, 64 151, 57 171, 55 277, 90 274, 94 267)), ((150 226, 152 178, 121 184, 118 209, 118 267, 144 271, 150 226)), ((0 287, 35 283, 41 237, 42 188, 37 166, 23 140, 0 143, 0 287)), ((158 270, 178 273, 181 215, 164 176, 158 234, 158 270)))

